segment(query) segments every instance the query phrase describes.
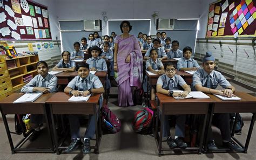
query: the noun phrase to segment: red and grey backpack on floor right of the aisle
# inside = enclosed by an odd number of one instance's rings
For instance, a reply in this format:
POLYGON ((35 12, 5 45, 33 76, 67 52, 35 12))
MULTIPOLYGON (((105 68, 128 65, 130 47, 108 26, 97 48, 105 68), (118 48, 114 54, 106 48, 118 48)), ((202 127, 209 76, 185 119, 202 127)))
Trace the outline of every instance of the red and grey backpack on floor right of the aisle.
POLYGON ((133 128, 138 134, 152 134, 153 111, 149 108, 139 110, 134 115, 133 128))

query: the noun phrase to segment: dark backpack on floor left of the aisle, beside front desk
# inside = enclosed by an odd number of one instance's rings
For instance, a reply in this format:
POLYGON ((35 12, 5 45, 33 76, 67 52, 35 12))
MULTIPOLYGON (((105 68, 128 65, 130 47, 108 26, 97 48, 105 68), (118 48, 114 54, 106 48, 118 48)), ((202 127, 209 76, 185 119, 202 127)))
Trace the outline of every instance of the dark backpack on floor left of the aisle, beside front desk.
POLYGON ((121 129, 121 121, 116 115, 105 105, 101 108, 102 128, 106 133, 118 133, 121 129))

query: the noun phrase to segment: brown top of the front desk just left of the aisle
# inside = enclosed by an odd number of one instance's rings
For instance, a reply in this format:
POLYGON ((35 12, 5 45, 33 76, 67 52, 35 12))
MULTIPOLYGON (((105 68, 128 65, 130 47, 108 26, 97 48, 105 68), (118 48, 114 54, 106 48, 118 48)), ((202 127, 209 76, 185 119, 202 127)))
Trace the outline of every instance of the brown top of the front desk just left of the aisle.
POLYGON ((66 94, 64 92, 58 92, 55 93, 49 98, 46 103, 98 103, 100 94, 93 94, 90 96, 89 100, 87 102, 69 102, 69 98, 71 98, 71 95, 66 94))

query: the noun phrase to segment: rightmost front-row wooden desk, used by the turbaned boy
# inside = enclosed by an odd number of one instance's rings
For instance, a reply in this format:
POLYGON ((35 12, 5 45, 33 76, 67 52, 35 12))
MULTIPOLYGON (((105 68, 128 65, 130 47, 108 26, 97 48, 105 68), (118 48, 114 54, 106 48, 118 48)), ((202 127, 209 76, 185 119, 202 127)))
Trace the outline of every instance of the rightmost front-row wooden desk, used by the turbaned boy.
MULTIPOLYGON (((206 129, 206 133, 208 133, 208 130, 211 127, 212 123, 212 117, 213 113, 252 113, 252 119, 250 128, 248 130, 247 138, 245 145, 243 145, 241 142, 237 140, 237 138, 234 137, 234 127, 232 129, 231 137, 232 139, 237 142, 242 148, 244 148, 244 152, 247 152, 248 145, 250 142, 250 138, 252 135, 252 130, 255 122, 255 113, 256 113, 256 97, 252 96, 250 94, 247 94, 245 92, 235 92, 235 95, 241 98, 240 101, 223 101, 219 98, 217 98, 214 95, 209 95, 213 101, 213 106, 210 108, 210 120, 208 122, 208 128, 206 129)), ((237 122, 237 115, 235 118, 234 125, 237 122)), ((206 137, 206 140, 208 140, 208 137, 206 137)), ((206 141, 207 143, 207 141, 206 141)), ((207 146, 207 144, 205 144, 207 146)), ((220 149, 219 151, 228 151, 230 149, 220 149)), ((205 151, 207 151, 207 148, 205 147, 205 151)))

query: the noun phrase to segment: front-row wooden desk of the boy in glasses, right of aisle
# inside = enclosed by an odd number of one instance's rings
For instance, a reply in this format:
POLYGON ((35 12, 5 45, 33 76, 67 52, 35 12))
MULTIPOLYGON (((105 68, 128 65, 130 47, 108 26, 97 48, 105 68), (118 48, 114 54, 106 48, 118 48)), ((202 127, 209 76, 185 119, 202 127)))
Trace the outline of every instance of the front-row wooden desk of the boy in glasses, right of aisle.
MULTIPOLYGON (((161 115, 179 115, 179 114, 203 114, 204 115, 204 122, 203 128, 201 133, 205 132, 206 127, 206 119, 208 108, 212 104, 212 99, 183 99, 183 100, 176 100, 168 95, 156 93, 158 100, 160 102, 160 106, 158 106, 157 112, 157 122, 156 122, 156 132, 155 132, 155 139, 158 147, 158 155, 163 155, 162 151, 164 150, 181 150, 180 148, 162 148, 161 143, 163 142, 163 124, 164 124, 164 116, 161 116, 160 122, 160 135, 158 134, 158 120, 159 120, 159 113, 161 115)), ((201 148, 203 145, 203 136, 200 137, 199 147, 188 147, 184 150, 197 150, 198 153, 201 153, 201 148)))

